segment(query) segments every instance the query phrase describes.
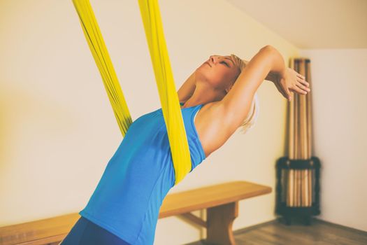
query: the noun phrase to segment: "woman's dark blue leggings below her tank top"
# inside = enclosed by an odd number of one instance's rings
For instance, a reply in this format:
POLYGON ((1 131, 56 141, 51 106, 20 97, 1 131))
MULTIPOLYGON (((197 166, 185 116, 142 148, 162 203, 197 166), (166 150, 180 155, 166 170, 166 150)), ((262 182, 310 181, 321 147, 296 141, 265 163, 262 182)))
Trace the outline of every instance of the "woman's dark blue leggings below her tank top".
POLYGON ((80 216, 60 245, 131 245, 80 216))

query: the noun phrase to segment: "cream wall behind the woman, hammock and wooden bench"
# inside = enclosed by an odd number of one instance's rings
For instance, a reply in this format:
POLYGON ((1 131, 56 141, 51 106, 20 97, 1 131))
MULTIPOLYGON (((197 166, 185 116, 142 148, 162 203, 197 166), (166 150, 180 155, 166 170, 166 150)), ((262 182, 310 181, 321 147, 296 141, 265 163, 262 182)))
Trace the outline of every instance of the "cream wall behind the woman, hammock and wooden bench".
MULTIPOLYGON (((158 109, 138 2, 91 2, 133 120, 158 109)), ((224 0, 159 4, 177 88, 209 55, 250 59, 267 44, 286 61, 298 55, 224 0)), ((0 226, 78 212, 122 136, 73 4, 2 0, 0 36, 0 226)), ((259 101, 257 125, 233 135, 170 193, 233 180, 275 187, 287 101, 268 81, 259 101)), ((275 190, 240 201, 233 230, 273 220, 274 207, 275 190)), ((180 218, 164 218, 155 244, 185 244, 202 234, 180 218)))

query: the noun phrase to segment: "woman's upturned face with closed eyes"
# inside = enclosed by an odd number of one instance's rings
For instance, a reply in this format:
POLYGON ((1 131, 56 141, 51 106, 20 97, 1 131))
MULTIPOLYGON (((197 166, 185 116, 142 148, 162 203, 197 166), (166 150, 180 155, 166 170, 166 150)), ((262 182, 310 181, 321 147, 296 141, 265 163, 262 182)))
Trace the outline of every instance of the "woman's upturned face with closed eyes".
POLYGON ((234 83, 240 69, 231 56, 211 55, 195 72, 196 80, 205 81, 216 89, 225 90, 234 83))

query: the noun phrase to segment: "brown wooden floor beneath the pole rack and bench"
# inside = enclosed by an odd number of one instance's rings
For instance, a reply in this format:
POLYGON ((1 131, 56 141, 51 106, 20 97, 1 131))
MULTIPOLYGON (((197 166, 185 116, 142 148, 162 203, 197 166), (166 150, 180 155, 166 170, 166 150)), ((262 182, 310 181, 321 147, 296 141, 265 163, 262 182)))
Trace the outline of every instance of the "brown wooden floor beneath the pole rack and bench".
MULTIPOLYGON (((367 232, 312 219, 311 225, 282 219, 233 232, 236 245, 366 245, 367 232)), ((208 245, 197 241, 186 245, 208 245)))

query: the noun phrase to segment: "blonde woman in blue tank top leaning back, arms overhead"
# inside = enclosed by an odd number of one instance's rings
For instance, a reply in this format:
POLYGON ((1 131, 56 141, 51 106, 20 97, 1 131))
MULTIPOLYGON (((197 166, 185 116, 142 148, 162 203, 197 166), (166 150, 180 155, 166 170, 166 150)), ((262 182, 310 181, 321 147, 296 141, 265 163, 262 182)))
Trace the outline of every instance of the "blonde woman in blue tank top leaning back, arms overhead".
MULTIPOLYGON (((192 170, 222 146, 238 127, 256 118, 256 91, 263 80, 306 94, 309 84, 285 67, 280 52, 266 45, 250 60, 212 55, 178 90, 192 170)), ((191 171, 192 171, 191 170, 191 171)), ((175 183, 166 125, 161 109, 132 123, 106 166, 66 244, 153 244, 159 209, 175 183)))

